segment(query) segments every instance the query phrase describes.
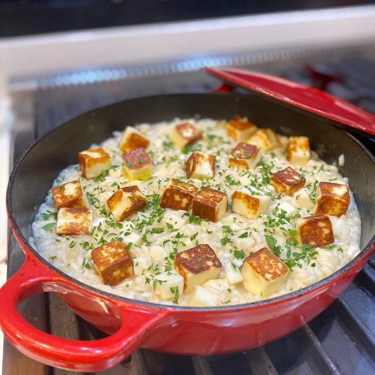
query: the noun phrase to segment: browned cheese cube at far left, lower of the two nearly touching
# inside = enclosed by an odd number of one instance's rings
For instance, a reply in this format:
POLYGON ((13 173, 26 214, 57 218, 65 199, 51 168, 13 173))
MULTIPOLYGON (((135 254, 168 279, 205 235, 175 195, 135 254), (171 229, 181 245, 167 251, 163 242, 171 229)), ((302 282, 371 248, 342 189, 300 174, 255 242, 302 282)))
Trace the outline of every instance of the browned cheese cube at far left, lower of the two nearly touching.
POLYGON ((72 209, 63 207, 58 212, 58 221, 56 224, 56 234, 62 236, 76 236, 88 234, 92 226, 91 209, 72 209))

